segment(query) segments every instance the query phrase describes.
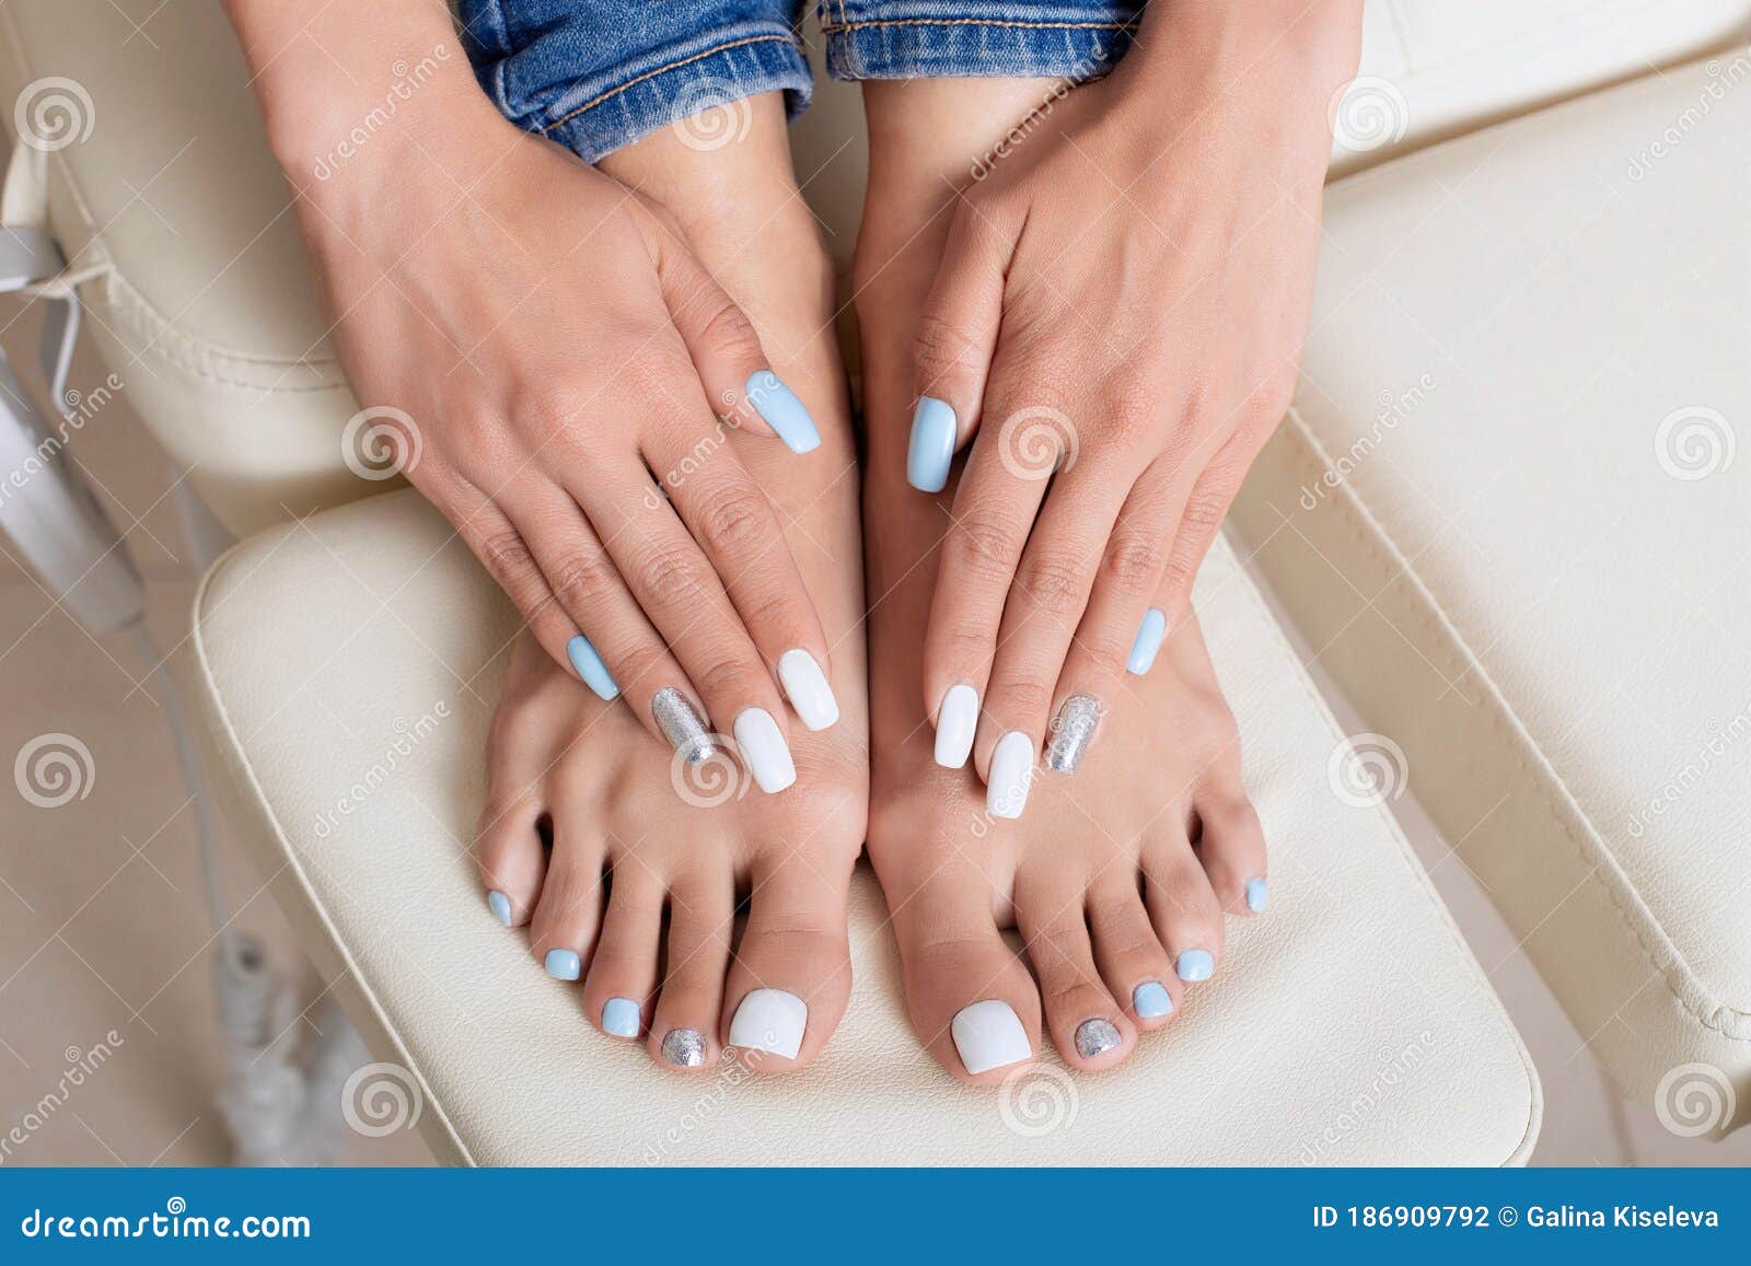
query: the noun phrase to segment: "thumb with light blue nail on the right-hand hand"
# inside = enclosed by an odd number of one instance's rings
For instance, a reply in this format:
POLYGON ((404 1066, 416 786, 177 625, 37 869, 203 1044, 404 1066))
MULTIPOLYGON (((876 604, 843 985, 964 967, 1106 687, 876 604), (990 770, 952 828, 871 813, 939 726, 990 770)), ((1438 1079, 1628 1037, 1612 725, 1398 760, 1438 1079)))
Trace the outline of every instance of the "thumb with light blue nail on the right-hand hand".
POLYGON ((1003 317, 1003 273, 1014 235, 993 208, 961 200, 937 277, 912 336, 912 438, 905 480, 919 492, 942 492, 949 464, 979 426, 986 375, 1003 317))

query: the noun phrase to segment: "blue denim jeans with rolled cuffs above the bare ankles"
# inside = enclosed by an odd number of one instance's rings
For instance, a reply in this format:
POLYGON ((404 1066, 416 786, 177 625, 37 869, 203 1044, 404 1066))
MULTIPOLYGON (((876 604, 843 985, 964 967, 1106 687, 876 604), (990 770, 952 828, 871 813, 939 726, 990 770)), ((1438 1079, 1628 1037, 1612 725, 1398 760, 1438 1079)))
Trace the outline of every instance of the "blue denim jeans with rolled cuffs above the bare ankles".
MULTIPOLYGON (((798 0, 455 7, 499 110, 587 163, 756 93, 783 91, 791 117, 809 103, 798 0)), ((1124 54, 1142 11, 1143 0, 819 0, 833 79, 1094 79, 1124 54)))

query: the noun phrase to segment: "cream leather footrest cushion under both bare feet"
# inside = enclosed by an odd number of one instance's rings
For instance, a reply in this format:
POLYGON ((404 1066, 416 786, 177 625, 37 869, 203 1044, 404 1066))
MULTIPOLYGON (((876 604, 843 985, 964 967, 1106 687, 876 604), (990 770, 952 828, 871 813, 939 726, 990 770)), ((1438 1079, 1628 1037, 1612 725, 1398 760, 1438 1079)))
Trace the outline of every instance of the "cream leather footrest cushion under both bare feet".
POLYGON ((851 1007, 795 1077, 662 1073, 587 1023, 469 860, 482 742, 515 630, 417 494, 264 532, 196 599, 229 816, 445 1159, 483 1164, 1522 1161, 1539 1087, 1392 819, 1327 786, 1341 735, 1227 546, 1199 583, 1271 839, 1271 911, 1122 1070, 1009 1091, 918 1045, 858 869, 851 1007))

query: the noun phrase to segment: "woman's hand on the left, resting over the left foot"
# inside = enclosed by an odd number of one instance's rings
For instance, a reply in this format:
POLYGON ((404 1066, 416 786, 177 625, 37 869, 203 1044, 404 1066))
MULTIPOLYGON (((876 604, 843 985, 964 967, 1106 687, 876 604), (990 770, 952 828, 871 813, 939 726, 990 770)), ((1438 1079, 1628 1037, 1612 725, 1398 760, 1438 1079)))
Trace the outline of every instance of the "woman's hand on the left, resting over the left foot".
POLYGON ((345 9, 345 42, 299 56, 320 37, 292 35, 261 79, 359 403, 404 433, 404 475, 548 655, 692 756, 704 728, 658 695, 697 697, 781 790, 774 671, 805 723, 832 723, 826 639, 732 438, 805 454, 805 408, 665 212, 497 116, 441 4, 345 9), (431 65, 434 46, 438 74, 336 158, 390 67, 431 65))

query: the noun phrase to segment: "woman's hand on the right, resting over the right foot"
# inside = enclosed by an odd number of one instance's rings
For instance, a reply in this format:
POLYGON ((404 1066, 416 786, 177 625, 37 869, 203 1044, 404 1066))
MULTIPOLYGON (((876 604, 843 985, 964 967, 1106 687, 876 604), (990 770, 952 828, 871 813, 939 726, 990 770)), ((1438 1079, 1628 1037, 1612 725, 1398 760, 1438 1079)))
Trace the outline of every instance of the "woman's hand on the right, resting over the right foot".
POLYGON ((942 763, 972 744, 989 781, 1007 739, 1009 781, 1051 730, 1072 772, 1184 611, 1289 406, 1359 9, 1152 9, 1108 79, 974 170, 918 327, 907 461, 940 492, 977 436, 925 641, 942 763))

